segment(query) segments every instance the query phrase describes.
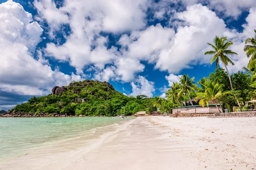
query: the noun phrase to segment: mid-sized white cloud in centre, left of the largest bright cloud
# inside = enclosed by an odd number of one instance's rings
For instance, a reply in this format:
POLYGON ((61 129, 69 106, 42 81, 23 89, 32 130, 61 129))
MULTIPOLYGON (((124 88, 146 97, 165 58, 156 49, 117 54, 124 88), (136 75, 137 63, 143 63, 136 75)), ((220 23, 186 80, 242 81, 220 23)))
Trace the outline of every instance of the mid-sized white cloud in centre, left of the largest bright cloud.
POLYGON ((127 49, 121 50, 123 56, 154 62, 160 50, 168 47, 174 34, 175 31, 172 28, 163 28, 161 24, 157 24, 143 31, 134 31, 130 37, 124 34, 119 43, 127 49))

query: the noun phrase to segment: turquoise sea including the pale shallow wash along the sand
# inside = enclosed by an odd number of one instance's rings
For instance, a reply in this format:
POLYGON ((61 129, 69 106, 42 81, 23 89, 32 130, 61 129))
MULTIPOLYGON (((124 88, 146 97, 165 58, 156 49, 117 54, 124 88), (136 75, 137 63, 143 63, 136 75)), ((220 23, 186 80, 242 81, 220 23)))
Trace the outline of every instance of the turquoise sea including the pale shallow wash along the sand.
POLYGON ((37 150, 44 151, 42 148, 74 149, 87 144, 87 140, 99 138, 118 128, 130 119, 134 118, 0 118, 0 164, 37 150))

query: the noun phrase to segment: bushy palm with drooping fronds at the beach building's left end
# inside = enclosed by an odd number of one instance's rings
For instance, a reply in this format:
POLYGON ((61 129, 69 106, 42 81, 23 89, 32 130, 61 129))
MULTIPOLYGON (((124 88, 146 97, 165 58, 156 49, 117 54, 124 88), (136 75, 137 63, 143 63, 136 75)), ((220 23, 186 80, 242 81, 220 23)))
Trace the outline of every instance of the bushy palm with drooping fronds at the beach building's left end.
POLYGON ((178 104, 178 106, 181 106, 180 98, 182 96, 181 96, 180 90, 181 90, 180 84, 178 84, 177 82, 173 82, 171 85, 171 88, 166 92, 167 100, 172 102, 173 104, 178 104))

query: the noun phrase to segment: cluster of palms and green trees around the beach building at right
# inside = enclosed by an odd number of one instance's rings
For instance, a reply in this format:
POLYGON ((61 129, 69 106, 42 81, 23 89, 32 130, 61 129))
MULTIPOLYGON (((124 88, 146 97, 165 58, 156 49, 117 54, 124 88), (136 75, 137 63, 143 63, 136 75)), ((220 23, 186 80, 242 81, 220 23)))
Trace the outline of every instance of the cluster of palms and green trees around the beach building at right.
POLYGON ((227 41, 226 37, 215 37, 214 44, 208 43, 213 48, 213 51, 205 52, 206 55, 213 55, 211 64, 216 63, 216 70, 209 77, 202 78, 198 85, 194 82, 194 77, 189 79, 188 75, 180 77, 180 83, 173 83, 167 91, 166 96, 169 102, 174 106, 182 106, 182 101, 191 100, 191 96, 196 96, 195 99, 201 99, 200 105, 208 105, 212 101, 216 107, 220 104, 222 108, 227 108, 232 111, 233 106, 238 106, 239 110, 249 108, 248 101, 256 99, 256 30, 253 38, 248 38, 245 41, 244 51, 247 52, 247 57, 250 62, 247 68, 230 75, 227 65, 234 65, 232 60, 227 55, 238 55, 228 48, 233 45, 232 41, 227 41), (223 68, 218 67, 221 64, 223 68))

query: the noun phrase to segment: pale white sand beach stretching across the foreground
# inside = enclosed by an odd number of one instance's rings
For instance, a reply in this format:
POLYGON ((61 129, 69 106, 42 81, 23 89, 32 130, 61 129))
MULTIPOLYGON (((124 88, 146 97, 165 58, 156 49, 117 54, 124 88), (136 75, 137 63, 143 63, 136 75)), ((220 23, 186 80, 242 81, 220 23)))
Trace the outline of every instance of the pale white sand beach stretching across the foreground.
POLYGON ((252 170, 256 118, 138 117, 49 144, 4 170, 252 170))

